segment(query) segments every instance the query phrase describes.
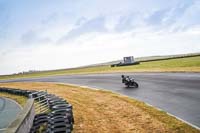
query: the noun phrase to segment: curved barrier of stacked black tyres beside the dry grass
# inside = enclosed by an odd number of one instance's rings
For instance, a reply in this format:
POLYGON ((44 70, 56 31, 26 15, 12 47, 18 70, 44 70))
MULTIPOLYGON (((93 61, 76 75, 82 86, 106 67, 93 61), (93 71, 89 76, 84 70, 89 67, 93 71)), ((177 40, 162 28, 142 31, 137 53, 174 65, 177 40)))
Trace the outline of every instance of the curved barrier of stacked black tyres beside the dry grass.
POLYGON ((25 96, 27 98, 40 97, 48 102, 49 112, 36 114, 30 133, 36 133, 42 128, 44 133, 71 133, 74 117, 73 107, 65 99, 43 91, 30 91, 11 88, 0 88, 0 92, 25 96))

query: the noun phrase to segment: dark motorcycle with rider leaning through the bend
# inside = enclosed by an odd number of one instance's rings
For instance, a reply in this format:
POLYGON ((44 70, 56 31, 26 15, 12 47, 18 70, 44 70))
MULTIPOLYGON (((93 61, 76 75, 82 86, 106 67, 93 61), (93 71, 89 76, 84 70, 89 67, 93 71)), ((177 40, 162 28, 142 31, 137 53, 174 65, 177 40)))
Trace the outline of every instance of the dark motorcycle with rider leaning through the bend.
POLYGON ((122 83, 124 83, 127 88, 129 88, 129 87, 138 88, 139 87, 138 83, 135 82, 135 80, 133 78, 130 78, 129 76, 122 75, 122 83))

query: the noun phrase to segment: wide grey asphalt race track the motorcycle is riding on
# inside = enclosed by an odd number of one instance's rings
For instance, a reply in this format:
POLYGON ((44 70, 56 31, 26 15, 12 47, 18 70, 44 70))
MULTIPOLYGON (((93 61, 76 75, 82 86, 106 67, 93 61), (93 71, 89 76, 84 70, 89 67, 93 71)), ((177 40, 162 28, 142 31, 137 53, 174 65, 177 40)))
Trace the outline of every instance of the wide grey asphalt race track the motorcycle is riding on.
POLYGON ((126 74, 135 78, 139 88, 125 88, 121 83, 120 73, 53 76, 0 82, 61 82, 103 88, 147 102, 200 127, 200 73, 126 74))

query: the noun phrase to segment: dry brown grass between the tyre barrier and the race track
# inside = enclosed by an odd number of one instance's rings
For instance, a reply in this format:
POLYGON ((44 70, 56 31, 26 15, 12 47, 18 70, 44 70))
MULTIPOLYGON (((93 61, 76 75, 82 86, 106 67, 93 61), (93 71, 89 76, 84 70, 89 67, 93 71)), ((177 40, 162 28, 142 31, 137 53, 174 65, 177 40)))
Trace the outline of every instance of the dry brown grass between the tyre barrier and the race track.
POLYGON ((47 90, 68 100, 74 108, 74 133, 200 132, 165 112, 107 91, 53 83, 1 83, 0 86, 47 90))

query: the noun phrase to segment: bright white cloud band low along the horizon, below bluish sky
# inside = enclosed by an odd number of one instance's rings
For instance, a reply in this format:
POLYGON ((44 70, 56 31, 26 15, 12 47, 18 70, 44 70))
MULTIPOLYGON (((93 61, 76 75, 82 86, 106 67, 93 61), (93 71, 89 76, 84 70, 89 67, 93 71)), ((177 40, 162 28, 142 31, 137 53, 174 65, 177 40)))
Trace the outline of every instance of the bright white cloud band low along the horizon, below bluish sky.
POLYGON ((133 31, 88 33, 81 35, 71 44, 48 44, 15 49, 5 55, 4 59, 1 58, 0 73, 69 68, 112 61, 129 55, 140 57, 199 52, 199 36, 200 27, 171 34, 151 29, 143 29, 136 35, 133 31))

